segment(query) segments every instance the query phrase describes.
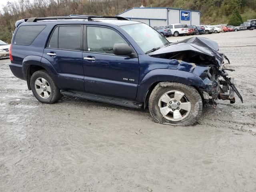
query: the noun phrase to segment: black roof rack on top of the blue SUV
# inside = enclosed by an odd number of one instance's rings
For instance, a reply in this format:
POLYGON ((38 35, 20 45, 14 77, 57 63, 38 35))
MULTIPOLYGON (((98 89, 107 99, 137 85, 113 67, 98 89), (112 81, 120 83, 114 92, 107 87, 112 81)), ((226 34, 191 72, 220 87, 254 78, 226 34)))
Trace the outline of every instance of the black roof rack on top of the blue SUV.
POLYGON ((28 19, 26 22, 36 22, 36 21, 42 21, 42 20, 64 20, 64 19, 87 19, 88 21, 94 21, 93 18, 95 19, 100 19, 100 18, 109 18, 109 19, 117 19, 117 20, 129 20, 124 17, 120 16, 90 16, 90 15, 79 15, 79 16, 57 16, 57 17, 34 17, 28 19))

